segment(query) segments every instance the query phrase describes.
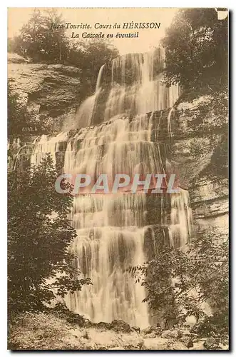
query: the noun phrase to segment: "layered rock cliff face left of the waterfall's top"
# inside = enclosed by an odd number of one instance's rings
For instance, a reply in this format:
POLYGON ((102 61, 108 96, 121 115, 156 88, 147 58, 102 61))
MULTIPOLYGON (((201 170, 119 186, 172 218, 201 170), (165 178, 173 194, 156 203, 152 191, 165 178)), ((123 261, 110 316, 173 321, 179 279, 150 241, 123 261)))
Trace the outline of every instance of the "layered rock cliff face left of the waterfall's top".
POLYGON ((81 69, 63 64, 33 64, 9 54, 9 86, 29 114, 43 114, 61 129, 65 117, 74 116, 81 102, 81 69))

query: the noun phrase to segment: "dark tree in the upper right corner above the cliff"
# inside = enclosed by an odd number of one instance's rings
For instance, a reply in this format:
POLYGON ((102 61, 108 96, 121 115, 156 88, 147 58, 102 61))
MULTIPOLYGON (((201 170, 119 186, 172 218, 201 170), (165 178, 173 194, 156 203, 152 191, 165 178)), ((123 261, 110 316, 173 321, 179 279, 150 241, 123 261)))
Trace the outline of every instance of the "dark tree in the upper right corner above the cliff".
POLYGON ((163 39, 165 80, 188 88, 227 86, 228 21, 215 9, 181 9, 163 39))

